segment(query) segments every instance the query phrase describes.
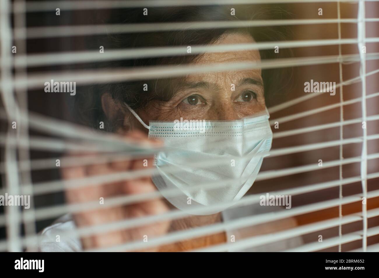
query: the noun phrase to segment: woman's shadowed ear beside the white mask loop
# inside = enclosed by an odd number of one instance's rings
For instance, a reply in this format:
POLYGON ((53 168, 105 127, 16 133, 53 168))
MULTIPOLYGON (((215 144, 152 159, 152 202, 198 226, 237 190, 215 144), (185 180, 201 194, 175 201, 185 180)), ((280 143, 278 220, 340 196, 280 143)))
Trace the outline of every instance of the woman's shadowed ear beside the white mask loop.
MULTIPOLYGON (((103 93, 101 96, 101 106, 105 113, 107 120, 110 123, 116 124, 116 132, 124 134, 130 130, 130 112, 126 112, 121 109, 119 105, 114 101, 110 93, 103 93)), ((112 126, 114 124, 111 124, 112 126)))

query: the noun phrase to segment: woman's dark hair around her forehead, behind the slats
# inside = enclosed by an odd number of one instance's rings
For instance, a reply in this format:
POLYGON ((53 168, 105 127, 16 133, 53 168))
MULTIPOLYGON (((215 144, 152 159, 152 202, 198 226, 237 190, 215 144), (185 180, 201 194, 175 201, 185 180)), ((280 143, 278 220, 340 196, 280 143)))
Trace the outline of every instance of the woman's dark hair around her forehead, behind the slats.
MULTIPOLYGON (((200 6, 185 8, 149 8, 148 16, 142 14, 142 9, 113 10, 109 19, 112 23, 164 23, 164 22, 191 22, 191 21, 236 21, 236 20, 271 20, 288 17, 288 13, 282 8, 268 8, 248 6, 247 8, 236 9, 236 16, 232 16, 230 8, 222 6, 200 6)), ((133 28, 133 27, 131 27, 133 28)), ((227 33, 250 34, 256 42, 278 41, 288 39, 287 27, 246 27, 229 29, 199 29, 162 31, 153 33, 126 33, 108 36, 106 49, 132 49, 144 47, 174 47, 188 45, 209 45, 216 42, 222 35, 227 33)), ((274 59, 289 57, 289 50, 280 49, 279 53, 274 53, 274 49, 260 50, 261 59, 274 59)), ((130 68, 160 65, 189 64, 201 57, 201 54, 190 54, 182 56, 149 57, 138 59, 123 59, 107 63, 99 63, 98 67, 105 68, 130 68)), ((262 78, 265 89, 266 105, 270 106, 273 99, 282 97, 280 92, 288 84, 291 70, 287 69, 264 69, 262 78)), ((169 101, 174 95, 175 79, 152 79, 138 80, 119 83, 109 83, 103 85, 92 85, 82 87, 78 90, 71 104, 74 118, 81 124, 86 124, 94 128, 99 127, 99 122, 104 122, 104 129, 112 131, 118 123, 106 119, 102 109, 101 96, 103 93, 110 93, 114 102, 125 109, 125 104, 132 109, 146 107, 150 101, 169 101), (144 84, 147 84, 148 91, 144 91, 144 84)))

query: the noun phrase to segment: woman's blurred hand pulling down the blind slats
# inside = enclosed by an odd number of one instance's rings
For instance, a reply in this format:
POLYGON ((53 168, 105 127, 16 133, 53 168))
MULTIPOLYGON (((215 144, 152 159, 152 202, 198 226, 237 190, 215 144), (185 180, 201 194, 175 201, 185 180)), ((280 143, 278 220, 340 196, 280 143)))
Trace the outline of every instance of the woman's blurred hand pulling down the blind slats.
MULTIPOLYGON (((136 142, 147 141, 152 144, 160 144, 157 141, 148 140, 142 132, 133 131, 125 135, 128 139, 134 139, 136 142)), ((83 155, 83 154, 74 154, 83 155)), ((86 154, 88 155, 88 154, 86 154)), ((99 154, 97 154, 99 155, 99 154)), ((100 155, 99 155, 100 156, 100 155)), ((85 166, 75 166, 63 168, 63 179, 67 184, 70 179, 80 179, 88 176, 106 175, 121 171, 133 171, 138 169, 146 169, 144 167, 144 159, 147 159, 148 167, 153 164, 152 157, 140 159, 128 159, 125 161, 117 161, 103 164, 94 163, 85 166)), ((146 165, 146 161, 145 161, 146 165)), ((116 196, 125 196, 131 194, 149 193, 157 190, 149 176, 141 177, 134 180, 123 180, 114 183, 91 184, 77 189, 69 189, 66 191, 66 199, 68 203, 86 203, 98 201, 103 197, 104 203, 107 199, 116 196)), ((168 211, 168 207, 163 199, 147 200, 141 203, 132 203, 119 207, 99 208, 96 210, 84 210, 74 213, 74 220, 78 227, 89 227, 93 225, 102 225, 111 222, 118 222, 135 217, 151 216, 161 214, 168 211)), ((141 241, 144 242, 144 236, 147 239, 155 236, 163 235, 168 231, 170 222, 158 222, 144 226, 133 227, 127 230, 110 230, 96 235, 89 235, 81 238, 84 249, 111 247, 124 244, 126 242, 141 241)), ((147 241, 148 242, 148 241, 147 241)), ((138 251, 157 251, 156 248, 140 249, 138 251)))

